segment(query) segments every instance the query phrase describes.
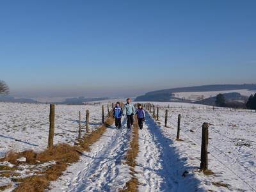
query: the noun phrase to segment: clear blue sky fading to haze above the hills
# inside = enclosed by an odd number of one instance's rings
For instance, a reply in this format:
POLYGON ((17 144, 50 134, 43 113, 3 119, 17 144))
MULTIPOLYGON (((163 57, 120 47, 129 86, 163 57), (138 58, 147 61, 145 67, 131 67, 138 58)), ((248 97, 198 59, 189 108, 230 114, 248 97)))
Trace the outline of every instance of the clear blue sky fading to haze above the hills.
POLYGON ((26 97, 256 83, 256 1, 0 1, 0 67, 26 97))

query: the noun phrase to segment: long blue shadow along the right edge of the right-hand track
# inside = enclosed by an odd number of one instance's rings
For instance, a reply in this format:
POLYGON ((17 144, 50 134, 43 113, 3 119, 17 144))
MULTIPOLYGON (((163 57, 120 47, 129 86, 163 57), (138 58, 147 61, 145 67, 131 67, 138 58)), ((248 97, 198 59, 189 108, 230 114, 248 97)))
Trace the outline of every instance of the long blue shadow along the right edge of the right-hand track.
POLYGON ((161 184, 161 191, 204 191, 199 188, 200 180, 193 175, 195 166, 188 166, 187 158, 179 156, 178 148, 172 147, 173 140, 163 136, 161 126, 147 114, 147 121, 145 124, 148 131, 152 134, 154 143, 161 152, 161 170, 154 170, 160 175, 164 182, 161 184), (185 174, 186 173, 186 174, 185 174))

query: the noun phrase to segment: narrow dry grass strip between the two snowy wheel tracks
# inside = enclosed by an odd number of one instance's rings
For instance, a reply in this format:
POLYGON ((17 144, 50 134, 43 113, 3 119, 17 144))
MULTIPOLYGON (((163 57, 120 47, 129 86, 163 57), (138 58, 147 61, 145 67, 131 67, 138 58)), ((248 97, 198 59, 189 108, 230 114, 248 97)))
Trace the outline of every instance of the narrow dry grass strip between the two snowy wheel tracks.
POLYGON ((134 126, 132 128, 132 140, 130 146, 131 148, 129 148, 129 150, 127 151, 126 163, 131 167, 130 170, 132 174, 132 179, 125 184, 125 189, 120 190, 122 192, 138 191, 139 181, 135 177, 136 172, 134 171, 134 167, 137 165, 136 157, 138 156, 139 152, 139 127, 137 118, 135 118, 134 126))

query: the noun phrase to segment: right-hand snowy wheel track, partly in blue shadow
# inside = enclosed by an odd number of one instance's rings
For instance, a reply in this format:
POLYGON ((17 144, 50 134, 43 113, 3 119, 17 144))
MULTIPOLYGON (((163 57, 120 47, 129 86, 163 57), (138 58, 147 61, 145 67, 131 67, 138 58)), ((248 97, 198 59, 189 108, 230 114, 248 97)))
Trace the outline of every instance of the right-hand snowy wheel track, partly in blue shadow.
POLYGON ((198 189, 200 181, 194 175, 182 174, 189 169, 180 159, 172 140, 164 138, 159 126, 150 115, 140 130, 140 152, 136 159, 136 175, 141 185, 139 191, 203 191, 198 189))

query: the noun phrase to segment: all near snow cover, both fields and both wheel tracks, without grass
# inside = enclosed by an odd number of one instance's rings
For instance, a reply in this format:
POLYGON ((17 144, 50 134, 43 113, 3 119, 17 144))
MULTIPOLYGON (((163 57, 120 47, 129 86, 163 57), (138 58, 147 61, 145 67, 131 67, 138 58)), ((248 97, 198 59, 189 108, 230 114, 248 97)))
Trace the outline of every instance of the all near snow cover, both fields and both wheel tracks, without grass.
MULTIPOLYGON (((139 132, 140 152, 135 167, 139 191, 255 191, 256 113, 225 108, 213 111, 199 104, 154 104, 170 108, 159 109, 159 122, 147 113, 145 126, 139 132), (165 109, 169 112, 167 128, 163 126, 165 109), (182 115, 182 141, 175 141, 179 114, 182 115), (204 122, 211 124, 209 169, 212 175, 204 175, 198 169, 204 122)), ((49 105, 0 103, 0 109, 0 156, 8 150, 44 150, 47 147, 49 105)), ((82 113, 84 125, 86 109, 90 110, 90 127, 95 129, 101 122, 101 104, 56 106, 54 143, 72 145, 76 141, 78 111, 82 113)), ((118 191, 124 188, 131 179, 129 166, 124 164, 131 138, 125 118, 123 128, 108 127, 100 140, 93 143, 90 152, 83 152, 78 163, 51 182, 50 191, 118 191)), ((19 170, 24 177, 29 176, 23 173, 26 168, 19 170)), ((0 176, 0 186, 10 182, 0 176)))

